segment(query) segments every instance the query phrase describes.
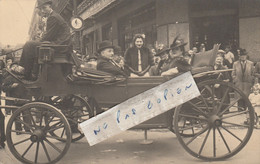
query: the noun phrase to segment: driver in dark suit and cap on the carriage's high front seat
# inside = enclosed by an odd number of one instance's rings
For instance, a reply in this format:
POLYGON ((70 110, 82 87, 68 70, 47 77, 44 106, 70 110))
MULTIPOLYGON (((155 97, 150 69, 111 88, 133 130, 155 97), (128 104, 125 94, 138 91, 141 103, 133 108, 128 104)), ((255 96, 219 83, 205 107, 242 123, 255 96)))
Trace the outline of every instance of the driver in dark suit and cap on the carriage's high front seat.
POLYGON ((71 47, 70 27, 67 22, 52 9, 51 0, 38 0, 37 8, 43 17, 47 17, 46 32, 40 41, 29 41, 25 43, 19 65, 24 67, 26 79, 31 79, 33 64, 37 60, 37 46, 43 42, 51 42, 56 45, 68 45, 69 48, 62 50, 67 52, 71 47))

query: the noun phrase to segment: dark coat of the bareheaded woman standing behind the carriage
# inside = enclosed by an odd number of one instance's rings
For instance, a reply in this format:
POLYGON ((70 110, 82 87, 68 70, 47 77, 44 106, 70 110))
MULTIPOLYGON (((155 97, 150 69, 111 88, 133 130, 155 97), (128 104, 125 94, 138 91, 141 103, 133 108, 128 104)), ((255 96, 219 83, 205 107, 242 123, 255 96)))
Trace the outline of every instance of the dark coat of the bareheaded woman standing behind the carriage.
MULTIPOLYGON (((141 61, 142 61, 142 70, 145 70, 148 66, 154 65, 153 55, 151 51, 142 47, 140 49, 141 52, 141 61)), ((135 71, 138 71, 138 49, 136 47, 128 48, 124 55, 125 64, 128 67, 131 67, 135 71)))

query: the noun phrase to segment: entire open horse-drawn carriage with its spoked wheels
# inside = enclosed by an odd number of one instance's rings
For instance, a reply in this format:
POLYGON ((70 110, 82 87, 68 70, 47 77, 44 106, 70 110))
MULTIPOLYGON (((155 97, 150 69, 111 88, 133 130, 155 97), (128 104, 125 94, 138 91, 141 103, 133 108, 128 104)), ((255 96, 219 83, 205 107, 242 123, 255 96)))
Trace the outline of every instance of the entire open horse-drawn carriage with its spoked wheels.
MULTIPOLYGON (((55 52, 57 47, 39 48, 40 69, 34 82, 21 80, 8 71, 33 97, 5 98, 25 105, 1 106, 17 108, 8 122, 6 137, 11 153, 23 163, 56 163, 66 154, 71 141, 84 137, 79 123, 97 113, 89 99, 108 109, 173 78, 114 77, 79 67, 73 55, 71 58, 55 52), (76 64, 75 71, 66 74, 64 66, 72 64, 76 64), (24 129, 16 130, 16 123, 24 129)), ((235 155, 250 139, 254 109, 238 88, 218 80, 219 74, 226 71, 230 70, 193 69, 201 95, 134 128, 168 128, 188 153, 204 160, 235 155), (246 102, 246 109, 237 106, 241 99, 246 102), (246 120, 248 124, 244 124, 246 120)))

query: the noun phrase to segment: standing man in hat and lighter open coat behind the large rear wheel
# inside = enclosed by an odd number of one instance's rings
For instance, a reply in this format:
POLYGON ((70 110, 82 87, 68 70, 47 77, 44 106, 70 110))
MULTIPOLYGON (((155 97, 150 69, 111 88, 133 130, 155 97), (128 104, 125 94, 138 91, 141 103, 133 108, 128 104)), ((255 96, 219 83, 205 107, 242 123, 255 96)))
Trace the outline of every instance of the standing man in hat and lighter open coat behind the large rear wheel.
MULTIPOLYGON (((240 49, 239 60, 233 64, 232 79, 235 86, 249 96, 254 81, 254 63, 247 60, 247 52, 240 49)), ((245 110, 246 103, 241 99, 238 101, 238 110, 245 110)))

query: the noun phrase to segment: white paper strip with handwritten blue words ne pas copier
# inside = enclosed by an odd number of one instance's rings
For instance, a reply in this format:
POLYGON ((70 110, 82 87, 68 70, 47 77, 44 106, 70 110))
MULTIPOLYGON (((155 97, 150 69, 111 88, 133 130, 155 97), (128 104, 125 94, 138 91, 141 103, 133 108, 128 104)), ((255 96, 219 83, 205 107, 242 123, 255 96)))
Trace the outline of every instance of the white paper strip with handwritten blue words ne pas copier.
POLYGON ((199 95, 191 73, 187 72, 114 106, 80 127, 92 146, 199 95))

